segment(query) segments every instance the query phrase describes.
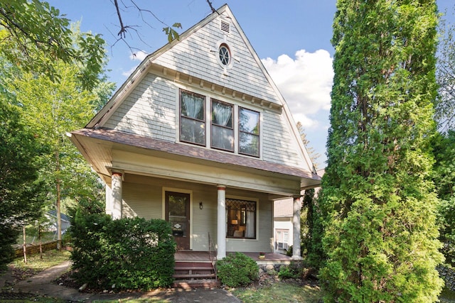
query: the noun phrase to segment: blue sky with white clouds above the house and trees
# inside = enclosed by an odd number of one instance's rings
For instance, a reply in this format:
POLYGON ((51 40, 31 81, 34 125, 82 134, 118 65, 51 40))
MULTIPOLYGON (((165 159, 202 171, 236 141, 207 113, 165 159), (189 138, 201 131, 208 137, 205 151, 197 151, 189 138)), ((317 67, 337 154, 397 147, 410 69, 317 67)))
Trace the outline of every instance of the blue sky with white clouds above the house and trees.
MULTIPOLYGON (((117 40, 118 18, 112 0, 52 0, 72 21, 81 22, 82 31, 101 33, 107 41, 109 80, 119 87, 139 60, 167 43, 162 23, 144 12, 151 25, 141 21, 135 9, 124 9, 124 23, 137 27, 127 35, 131 50, 117 40), (146 43, 142 43, 141 40, 146 43)), ((119 1, 121 3, 122 1, 119 1)), ((182 24, 181 31, 210 14, 206 0, 136 0, 142 9, 152 11, 167 25, 182 24)), ((326 166, 326 138, 333 71, 333 14, 336 0, 211 0, 218 9, 227 3, 247 35, 257 55, 287 100, 294 120, 300 121, 309 145, 321 157, 319 168, 326 166)), ((129 0, 124 0, 129 3, 129 0)), ((453 0, 437 0, 439 10, 454 8, 453 0)), ((181 32, 179 31, 179 32, 181 32)))

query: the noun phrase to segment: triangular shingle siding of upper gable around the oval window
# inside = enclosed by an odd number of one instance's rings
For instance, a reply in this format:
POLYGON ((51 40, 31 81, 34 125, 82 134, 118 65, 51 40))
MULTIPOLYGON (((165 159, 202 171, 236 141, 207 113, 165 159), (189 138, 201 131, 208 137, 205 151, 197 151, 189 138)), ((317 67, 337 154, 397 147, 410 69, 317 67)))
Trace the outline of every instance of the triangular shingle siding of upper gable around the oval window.
MULTIPOLYGON (((218 16, 218 18, 223 17, 218 16)), ((215 24, 219 22, 211 22, 198 28, 188 38, 179 41, 170 50, 154 58, 154 64, 207 79, 223 87, 251 94, 258 99, 281 104, 237 28, 231 25, 231 33, 224 35, 219 25, 215 24), (217 48, 217 42, 224 39, 232 48, 232 60, 234 60, 232 68, 226 72, 218 63, 217 48)))

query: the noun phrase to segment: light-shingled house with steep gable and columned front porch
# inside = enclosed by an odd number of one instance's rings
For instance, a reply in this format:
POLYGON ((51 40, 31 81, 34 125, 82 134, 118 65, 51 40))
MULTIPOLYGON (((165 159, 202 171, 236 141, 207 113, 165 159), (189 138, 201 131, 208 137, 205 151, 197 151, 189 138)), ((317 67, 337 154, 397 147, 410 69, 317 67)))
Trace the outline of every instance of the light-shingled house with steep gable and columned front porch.
POLYGON ((208 251, 210 235, 218 259, 273 252, 274 199, 299 204, 320 183, 227 5, 146 57, 70 139, 107 184, 108 214, 170 221, 178 250, 208 251))

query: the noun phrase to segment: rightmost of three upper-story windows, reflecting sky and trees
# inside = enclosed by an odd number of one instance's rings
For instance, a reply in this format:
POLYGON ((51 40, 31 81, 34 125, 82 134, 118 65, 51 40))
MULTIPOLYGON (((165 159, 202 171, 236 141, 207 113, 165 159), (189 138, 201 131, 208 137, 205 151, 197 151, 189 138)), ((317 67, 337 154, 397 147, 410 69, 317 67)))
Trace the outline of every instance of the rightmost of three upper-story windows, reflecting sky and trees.
POLYGON ((239 109, 239 153, 259 157, 259 113, 239 109))

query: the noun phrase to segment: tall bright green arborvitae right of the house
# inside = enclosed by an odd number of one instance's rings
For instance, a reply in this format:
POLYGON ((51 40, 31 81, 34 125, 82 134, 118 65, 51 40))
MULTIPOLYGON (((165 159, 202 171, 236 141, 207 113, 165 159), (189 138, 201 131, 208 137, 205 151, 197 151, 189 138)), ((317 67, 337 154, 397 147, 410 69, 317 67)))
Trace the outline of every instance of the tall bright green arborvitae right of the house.
POLYGON ((328 302, 434 302, 435 0, 338 0, 320 202, 328 302))

